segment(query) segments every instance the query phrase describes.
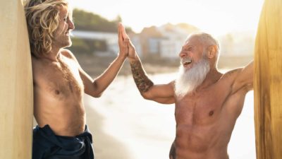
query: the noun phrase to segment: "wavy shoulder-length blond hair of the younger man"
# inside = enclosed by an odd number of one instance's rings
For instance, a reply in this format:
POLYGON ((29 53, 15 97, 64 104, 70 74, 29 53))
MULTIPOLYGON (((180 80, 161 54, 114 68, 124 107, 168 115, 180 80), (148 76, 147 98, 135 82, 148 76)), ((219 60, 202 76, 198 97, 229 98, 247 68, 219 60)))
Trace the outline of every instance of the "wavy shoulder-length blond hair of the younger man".
POLYGON ((59 8, 68 7, 66 0, 27 0, 25 1, 31 53, 42 57, 51 51, 54 31, 59 27, 59 8))

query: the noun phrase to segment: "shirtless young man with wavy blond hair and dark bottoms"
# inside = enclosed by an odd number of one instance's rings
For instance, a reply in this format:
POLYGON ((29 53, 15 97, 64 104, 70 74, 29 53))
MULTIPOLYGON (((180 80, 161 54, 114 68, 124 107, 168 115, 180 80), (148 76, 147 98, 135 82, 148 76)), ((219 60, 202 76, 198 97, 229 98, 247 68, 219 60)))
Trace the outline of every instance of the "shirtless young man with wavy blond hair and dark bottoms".
POLYGON ((99 98, 128 56, 128 37, 118 26, 118 57, 96 79, 85 73, 73 53, 75 28, 66 0, 27 0, 25 16, 32 53, 34 116, 32 158, 94 158, 85 125, 83 93, 99 98))

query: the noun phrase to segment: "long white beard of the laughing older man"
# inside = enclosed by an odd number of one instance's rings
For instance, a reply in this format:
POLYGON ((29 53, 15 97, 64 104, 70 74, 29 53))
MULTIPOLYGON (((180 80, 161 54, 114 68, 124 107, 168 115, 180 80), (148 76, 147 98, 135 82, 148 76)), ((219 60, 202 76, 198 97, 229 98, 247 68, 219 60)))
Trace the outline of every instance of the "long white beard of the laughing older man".
POLYGON ((209 73, 209 60, 201 59, 191 69, 186 70, 182 64, 180 64, 178 71, 178 78, 176 78, 175 91, 176 95, 180 98, 184 97, 188 93, 194 91, 209 73))

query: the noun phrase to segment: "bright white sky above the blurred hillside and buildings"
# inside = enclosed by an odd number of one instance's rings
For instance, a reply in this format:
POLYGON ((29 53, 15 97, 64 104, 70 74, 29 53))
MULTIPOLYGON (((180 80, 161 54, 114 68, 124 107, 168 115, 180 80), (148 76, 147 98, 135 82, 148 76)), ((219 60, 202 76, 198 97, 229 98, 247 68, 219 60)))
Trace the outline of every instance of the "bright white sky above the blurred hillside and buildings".
POLYGON ((69 0, 74 8, 97 13, 108 20, 121 16, 137 33, 165 23, 188 23, 200 30, 224 35, 256 33, 264 0, 69 0))

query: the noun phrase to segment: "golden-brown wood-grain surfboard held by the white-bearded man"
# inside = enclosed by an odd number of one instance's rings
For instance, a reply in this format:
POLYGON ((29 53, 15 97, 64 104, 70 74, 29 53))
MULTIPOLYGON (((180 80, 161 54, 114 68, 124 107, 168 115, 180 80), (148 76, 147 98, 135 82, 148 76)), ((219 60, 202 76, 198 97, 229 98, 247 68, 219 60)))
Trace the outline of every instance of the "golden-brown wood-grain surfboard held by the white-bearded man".
POLYGON ((255 42, 257 159, 282 156, 282 1, 265 0, 255 42))

